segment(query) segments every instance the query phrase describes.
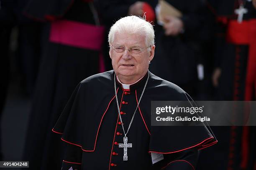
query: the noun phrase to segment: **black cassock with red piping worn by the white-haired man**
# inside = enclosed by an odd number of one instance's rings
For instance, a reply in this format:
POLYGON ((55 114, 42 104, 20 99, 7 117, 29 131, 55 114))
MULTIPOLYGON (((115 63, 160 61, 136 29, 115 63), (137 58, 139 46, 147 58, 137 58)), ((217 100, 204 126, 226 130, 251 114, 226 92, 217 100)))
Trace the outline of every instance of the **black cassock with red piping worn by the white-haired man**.
POLYGON ((123 161, 123 129, 118 115, 113 70, 93 75, 77 85, 53 131, 67 143, 62 170, 113 169, 193 170, 197 150, 217 140, 205 126, 151 126, 151 100, 189 99, 184 90, 148 72, 140 81, 122 88, 117 95, 125 132, 149 75, 148 84, 129 133, 128 161, 123 161), (163 153, 164 160, 152 165, 151 153, 163 153))

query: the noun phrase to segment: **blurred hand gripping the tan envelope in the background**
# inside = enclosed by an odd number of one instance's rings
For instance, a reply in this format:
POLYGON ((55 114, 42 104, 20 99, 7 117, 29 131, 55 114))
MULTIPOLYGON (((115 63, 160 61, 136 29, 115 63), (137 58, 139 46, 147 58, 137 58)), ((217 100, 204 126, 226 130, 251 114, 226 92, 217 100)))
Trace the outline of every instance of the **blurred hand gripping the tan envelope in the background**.
POLYGON ((181 19, 173 16, 165 16, 164 24, 165 35, 178 35, 183 30, 183 22, 181 19))

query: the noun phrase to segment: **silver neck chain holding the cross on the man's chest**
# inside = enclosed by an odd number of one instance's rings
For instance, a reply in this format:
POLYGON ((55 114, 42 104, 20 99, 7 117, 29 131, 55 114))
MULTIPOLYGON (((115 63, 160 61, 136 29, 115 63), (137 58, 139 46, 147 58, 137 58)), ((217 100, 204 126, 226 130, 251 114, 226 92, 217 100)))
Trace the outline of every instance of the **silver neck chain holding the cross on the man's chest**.
MULTIPOLYGON (((116 76, 116 75, 115 75, 115 76, 116 76)), ((149 78, 149 71, 148 71, 148 78, 149 78)), ((147 83, 148 83, 148 78, 147 78, 147 81, 146 81, 146 83, 145 83, 145 86, 144 86, 144 88, 143 88, 143 90, 142 90, 141 97, 142 97, 142 95, 143 95, 143 93, 144 93, 144 90, 145 90, 145 88, 146 88, 146 85, 147 85, 147 83)), ((114 83, 115 83, 115 77, 114 77, 114 83)), ((138 100, 138 105, 140 104, 141 97, 140 97, 140 99, 138 100)), ((119 109, 119 104, 118 104, 118 97, 117 97, 117 92, 116 92, 116 85, 115 85, 115 99, 116 99, 116 104, 117 104, 117 107, 118 107, 118 115, 119 115, 120 122, 121 122, 121 125, 122 125, 122 128, 123 128, 123 121, 122 121, 122 117, 121 117, 120 109, 119 109)), ((135 109, 135 111, 134 111, 134 113, 133 113, 133 117, 132 117, 132 119, 131 119, 130 125, 129 125, 129 127, 128 127, 126 133, 125 133, 125 130, 124 130, 124 128, 123 128, 123 133, 124 133, 125 137, 126 137, 126 135, 128 134, 128 131, 129 131, 130 127, 131 127, 131 124, 132 124, 132 122, 133 122, 133 118, 134 118, 134 116, 135 116, 136 110, 138 109, 138 105, 137 105, 137 107, 136 107, 136 109, 135 109)))

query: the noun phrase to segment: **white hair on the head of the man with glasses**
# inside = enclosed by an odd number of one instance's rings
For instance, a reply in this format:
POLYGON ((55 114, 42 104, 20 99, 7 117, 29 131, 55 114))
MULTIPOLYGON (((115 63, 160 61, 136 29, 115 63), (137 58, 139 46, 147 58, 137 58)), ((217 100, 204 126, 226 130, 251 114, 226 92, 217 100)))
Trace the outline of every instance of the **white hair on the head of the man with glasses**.
MULTIPOLYGON (((110 28, 108 34, 109 45, 113 44, 115 33, 131 33, 145 35, 145 45, 148 47, 154 45, 155 33, 151 23, 146 21, 146 18, 137 17, 134 15, 119 19, 110 28)), ((150 49, 149 49, 150 51, 150 49)))

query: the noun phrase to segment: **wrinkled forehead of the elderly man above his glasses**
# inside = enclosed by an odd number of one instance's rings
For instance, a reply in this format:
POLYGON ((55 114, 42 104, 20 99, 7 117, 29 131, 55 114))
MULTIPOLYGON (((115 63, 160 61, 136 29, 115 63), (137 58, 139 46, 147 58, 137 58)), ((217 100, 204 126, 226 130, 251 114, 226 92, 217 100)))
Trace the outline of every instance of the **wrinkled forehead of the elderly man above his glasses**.
POLYGON ((115 32, 113 45, 143 47, 146 45, 146 36, 140 33, 115 32))

